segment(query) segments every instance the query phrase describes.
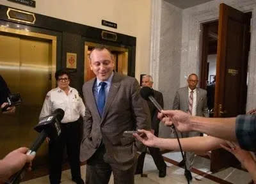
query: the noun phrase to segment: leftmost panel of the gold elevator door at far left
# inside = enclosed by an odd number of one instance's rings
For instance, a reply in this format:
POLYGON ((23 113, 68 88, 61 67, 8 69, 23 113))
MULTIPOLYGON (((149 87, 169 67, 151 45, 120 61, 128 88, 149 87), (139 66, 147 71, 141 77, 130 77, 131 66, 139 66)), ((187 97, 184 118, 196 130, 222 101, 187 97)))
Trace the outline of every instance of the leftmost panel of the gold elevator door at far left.
MULTIPOLYGON (((20 38, 0 34, 0 74, 12 91, 19 91, 20 38)), ((19 148, 19 107, 12 116, 0 113, 0 158, 19 148)))

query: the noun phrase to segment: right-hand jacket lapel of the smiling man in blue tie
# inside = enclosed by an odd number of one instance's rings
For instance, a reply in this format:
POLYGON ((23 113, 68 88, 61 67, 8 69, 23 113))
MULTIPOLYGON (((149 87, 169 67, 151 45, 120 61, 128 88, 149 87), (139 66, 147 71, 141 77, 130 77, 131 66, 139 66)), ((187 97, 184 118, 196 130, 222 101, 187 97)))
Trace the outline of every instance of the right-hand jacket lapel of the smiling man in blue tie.
POLYGON ((104 107, 104 111, 103 111, 103 114, 102 114, 101 123, 104 120, 104 118, 106 116, 106 113, 108 112, 109 106, 113 102, 113 100, 116 96, 116 93, 117 93, 117 91, 120 87, 119 78, 120 78, 119 75, 114 73, 113 79, 111 81, 111 86, 110 86, 109 91, 108 91, 108 98, 107 98, 107 101, 106 101, 106 104, 105 104, 105 107, 104 107))

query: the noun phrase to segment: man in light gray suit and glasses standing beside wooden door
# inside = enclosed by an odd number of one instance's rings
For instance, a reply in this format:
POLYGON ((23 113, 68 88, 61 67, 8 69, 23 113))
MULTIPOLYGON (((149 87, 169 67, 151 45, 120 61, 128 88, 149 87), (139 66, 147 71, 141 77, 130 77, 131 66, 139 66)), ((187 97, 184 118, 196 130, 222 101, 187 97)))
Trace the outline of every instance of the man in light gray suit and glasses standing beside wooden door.
MULTIPOLYGON (((207 108, 207 92, 205 89, 196 88, 198 77, 195 73, 191 73, 188 77, 188 86, 178 89, 173 100, 173 110, 181 110, 188 112, 192 116, 209 117, 207 108)), ((200 132, 184 132, 182 137, 200 136, 200 132)), ((179 163, 179 166, 184 166, 189 169, 195 158, 194 152, 185 152, 185 160, 179 163), (186 163, 185 163, 186 161, 186 163)))

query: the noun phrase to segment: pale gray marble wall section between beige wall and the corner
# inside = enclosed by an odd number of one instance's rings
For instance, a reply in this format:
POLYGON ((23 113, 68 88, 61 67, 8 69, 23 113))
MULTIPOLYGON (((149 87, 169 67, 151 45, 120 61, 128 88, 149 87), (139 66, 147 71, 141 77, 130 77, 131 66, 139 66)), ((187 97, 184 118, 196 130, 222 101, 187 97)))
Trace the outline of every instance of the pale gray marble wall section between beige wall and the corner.
MULTIPOLYGON (((180 86, 180 47, 182 10, 166 1, 156 0, 152 14, 151 62, 154 88, 164 97, 164 109, 172 108, 173 96, 180 86), (155 21, 155 24, 154 24, 155 21)), ((172 137, 171 130, 160 124, 159 136, 172 137)))

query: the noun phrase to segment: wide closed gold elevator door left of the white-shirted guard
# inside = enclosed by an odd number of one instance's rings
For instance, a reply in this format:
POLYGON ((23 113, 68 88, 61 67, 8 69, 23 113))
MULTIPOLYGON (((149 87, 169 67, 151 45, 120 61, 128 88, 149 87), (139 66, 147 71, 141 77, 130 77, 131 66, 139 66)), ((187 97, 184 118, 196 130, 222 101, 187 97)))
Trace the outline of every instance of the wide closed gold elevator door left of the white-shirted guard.
MULTIPOLYGON (((38 135, 33 127, 51 89, 51 47, 51 42, 42 39, 0 32, 0 75, 10 91, 22 98, 15 114, 0 115, 0 158, 20 146, 31 146, 38 135)), ((34 164, 45 163, 46 157, 47 145, 43 144, 34 164)))

